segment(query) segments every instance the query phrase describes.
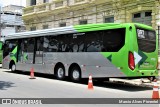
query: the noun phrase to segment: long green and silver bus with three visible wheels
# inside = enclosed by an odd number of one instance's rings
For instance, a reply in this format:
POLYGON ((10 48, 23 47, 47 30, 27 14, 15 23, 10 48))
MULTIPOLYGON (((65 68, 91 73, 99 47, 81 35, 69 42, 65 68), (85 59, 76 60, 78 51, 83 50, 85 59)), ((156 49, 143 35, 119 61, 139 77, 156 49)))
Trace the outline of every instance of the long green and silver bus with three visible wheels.
POLYGON ((57 79, 154 78, 158 36, 139 23, 75 25, 9 34, 3 64, 11 71, 53 74, 57 79))

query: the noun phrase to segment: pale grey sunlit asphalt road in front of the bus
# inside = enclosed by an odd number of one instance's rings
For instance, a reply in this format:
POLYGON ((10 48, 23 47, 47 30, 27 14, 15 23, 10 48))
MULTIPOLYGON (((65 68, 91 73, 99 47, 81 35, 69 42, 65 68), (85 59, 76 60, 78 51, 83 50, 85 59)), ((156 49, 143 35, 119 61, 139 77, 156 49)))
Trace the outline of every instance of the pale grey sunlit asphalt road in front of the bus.
MULTIPOLYGON (((9 70, 0 69, 0 98, 151 98, 153 91, 149 87, 97 81, 93 81, 94 89, 88 90, 88 80, 73 83, 68 79, 65 81, 56 80, 52 75, 35 74, 35 77, 36 79, 29 79, 28 72, 12 73, 9 70)), ((74 107, 75 105, 58 106, 74 107)), ((81 105, 76 106, 81 107, 81 105)), ((106 107, 106 105, 101 106, 106 107)), ((112 106, 127 107, 127 105, 112 106)), ((143 106, 150 107, 151 105, 143 106)))

